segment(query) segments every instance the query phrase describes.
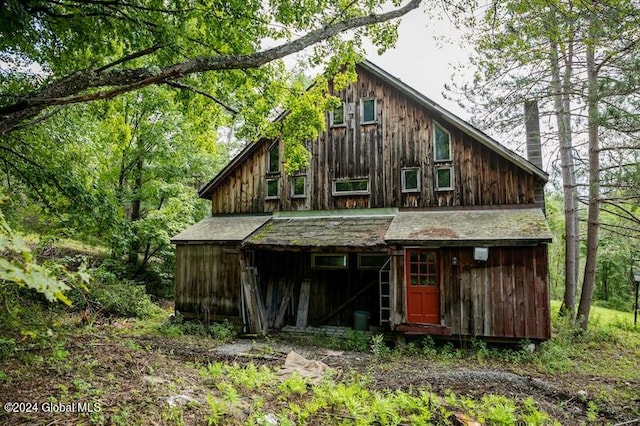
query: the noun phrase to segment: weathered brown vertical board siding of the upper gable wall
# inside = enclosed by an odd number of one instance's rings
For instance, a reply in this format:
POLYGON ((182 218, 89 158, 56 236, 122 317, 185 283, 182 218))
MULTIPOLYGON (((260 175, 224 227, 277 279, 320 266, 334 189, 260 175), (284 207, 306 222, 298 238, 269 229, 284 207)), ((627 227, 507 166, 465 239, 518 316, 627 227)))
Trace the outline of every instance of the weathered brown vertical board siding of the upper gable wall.
MULTIPOLYGON (((368 207, 435 207, 530 204, 534 176, 469 136, 447 127, 416 102, 384 81, 361 70, 355 83, 336 94, 352 103, 355 114, 347 126, 327 128, 309 143, 308 196, 291 199, 290 178, 280 174, 279 200, 265 200, 267 152, 258 149, 212 194, 212 213, 257 213, 276 210, 325 210, 368 207), (377 99, 377 123, 360 124, 360 99, 377 99), (452 137, 454 190, 436 191, 434 183, 434 120, 452 137), (421 167, 419 193, 402 193, 401 169, 421 167), (369 177, 369 195, 333 196, 335 178, 369 177)), ((328 118, 328 114, 327 114, 328 118)), ((283 149, 281 149, 281 159, 283 149)))

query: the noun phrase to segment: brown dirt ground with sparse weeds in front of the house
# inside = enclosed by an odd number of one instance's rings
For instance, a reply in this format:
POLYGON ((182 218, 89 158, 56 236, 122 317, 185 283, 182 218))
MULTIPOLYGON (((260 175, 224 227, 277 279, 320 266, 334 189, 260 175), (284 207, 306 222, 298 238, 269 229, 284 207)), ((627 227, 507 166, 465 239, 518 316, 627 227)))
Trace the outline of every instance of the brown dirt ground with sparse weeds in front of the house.
MULTIPOLYGON (((225 361, 277 368, 290 351, 323 361, 342 374, 349 371, 366 374, 372 386, 380 390, 426 388, 438 394, 445 390, 476 397, 492 393, 515 400, 532 396, 540 409, 566 425, 586 423, 589 395, 581 391, 589 389, 594 380, 577 374, 535 377, 465 362, 443 367, 420 357, 380 360, 369 353, 329 350, 278 338, 237 339, 218 344, 203 338, 114 338, 98 332, 74 339, 66 351, 66 356, 62 354, 62 359, 55 361, 36 357, 29 368, 11 362, 0 364, 0 371, 7 375, 0 381, 0 402, 40 404, 38 412, 32 413, 0 410, 0 424, 132 424, 140 419, 140 412, 146 413, 141 424, 173 424, 166 407, 185 403, 201 408, 187 410, 181 420, 185 424, 204 424, 204 395, 208 388, 197 366, 225 361), (43 406, 45 402, 49 405, 43 406), (98 403, 100 412, 88 416, 51 412, 54 404, 68 406, 71 402, 98 403), (43 412, 43 408, 48 412, 43 412)), ((602 383, 602 386, 640 389, 640 382, 602 383)), ((70 408, 77 411, 73 406, 70 408)), ((599 421, 632 424, 625 423, 633 420, 627 408, 599 406, 599 421)))

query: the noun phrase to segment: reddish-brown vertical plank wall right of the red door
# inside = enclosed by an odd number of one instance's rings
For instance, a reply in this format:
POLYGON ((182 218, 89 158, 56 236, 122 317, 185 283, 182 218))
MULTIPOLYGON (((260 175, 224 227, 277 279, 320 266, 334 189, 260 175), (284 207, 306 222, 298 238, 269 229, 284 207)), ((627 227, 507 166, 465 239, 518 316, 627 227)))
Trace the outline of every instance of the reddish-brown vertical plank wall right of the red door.
POLYGON ((473 260, 470 247, 440 253, 441 315, 452 334, 549 338, 546 246, 490 247, 485 265, 473 260))

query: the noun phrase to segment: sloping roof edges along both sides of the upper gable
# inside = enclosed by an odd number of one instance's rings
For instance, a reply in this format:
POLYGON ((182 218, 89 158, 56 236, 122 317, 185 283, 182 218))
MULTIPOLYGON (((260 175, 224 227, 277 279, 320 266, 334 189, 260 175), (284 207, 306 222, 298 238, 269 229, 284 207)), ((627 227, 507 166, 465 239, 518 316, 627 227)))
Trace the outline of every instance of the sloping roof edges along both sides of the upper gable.
MULTIPOLYGON (((365 60, 360 62, 358 67, 361 67, 365 71, 373 74, 379 79, 383 80, 391 87, 395 88, 399 92, 403 93, 408 98, 414 100, 422 107, 431 111, 434 115, 438 116, 440 120, 446 121, 451 126, 459 129, 463 133, 471 136, 490 150, 494 151, 498 155, 504 157, 505 159, 511 161, 527 172, 538 176, 540 179, 543 179, 545 182, 549 179, 549 175, 542 169, 540 169, 535 164, 531 163, 526 158, 520 156, 516 152, 508 149, 491 136, 487 135, 480 129, 475 126, 467 123, 460 117, 456 116, 452 112, 438 105, 433 100, 429 99, 427 96, 418 92, 414 88, 410 87, 406 83, 402 82, 402 80, 392 76, 388 72, 384 71, 382 68, 378 67, 374 63, 365 60)), ((282 120, 286 115, 287 111, 281 113, 275 121, 282 120)), ((209 181, 205 186, 203 186, 200 191, 198 191, 198 196, 200 198, 209 199, 211 197, 211 192, 227 177, 231 174, 235 168, 244 162, 246 158, 251 156, 263 143, 271 142, 270 139, 260 138, 258 141, 254 143, 250 143, 247 145, 238 155, 236 155, 211 181, 209 181)))

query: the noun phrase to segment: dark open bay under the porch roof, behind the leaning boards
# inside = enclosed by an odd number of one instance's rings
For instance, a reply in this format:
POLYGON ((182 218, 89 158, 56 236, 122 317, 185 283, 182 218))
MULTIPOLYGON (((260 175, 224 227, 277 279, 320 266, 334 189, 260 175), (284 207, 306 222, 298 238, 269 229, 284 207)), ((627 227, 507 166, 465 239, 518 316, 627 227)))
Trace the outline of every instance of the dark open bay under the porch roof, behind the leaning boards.
MULTIPOLYGON (((260 288, 263 297, 269 286, 277 287, 282 279, 293 279, 293 298, 285 317, 285 324, 295 324, 300 286, 305 278, 311 279, 309 297, 308 323, 322 325, 319 321, 327 314, 342 305, 355 295, 362 286, 377 279, 377 271, 361 271, 357 269, 357 254, 349 254, 349 269, 311 269, 310 253, 256 250, 256 266, 260 273, 260 288)), ((271 303, 280 300, 281 295, 272 293, 271 303)), ((266 304, 268 305, 268 301, 266 304)), ((371 312, 371 323, 379 321, 379 289, 374 285, 370 291, 355 299, 339 314, 327 321, 327 324, 352 326, 353 311, 367 310, 371 312)))

